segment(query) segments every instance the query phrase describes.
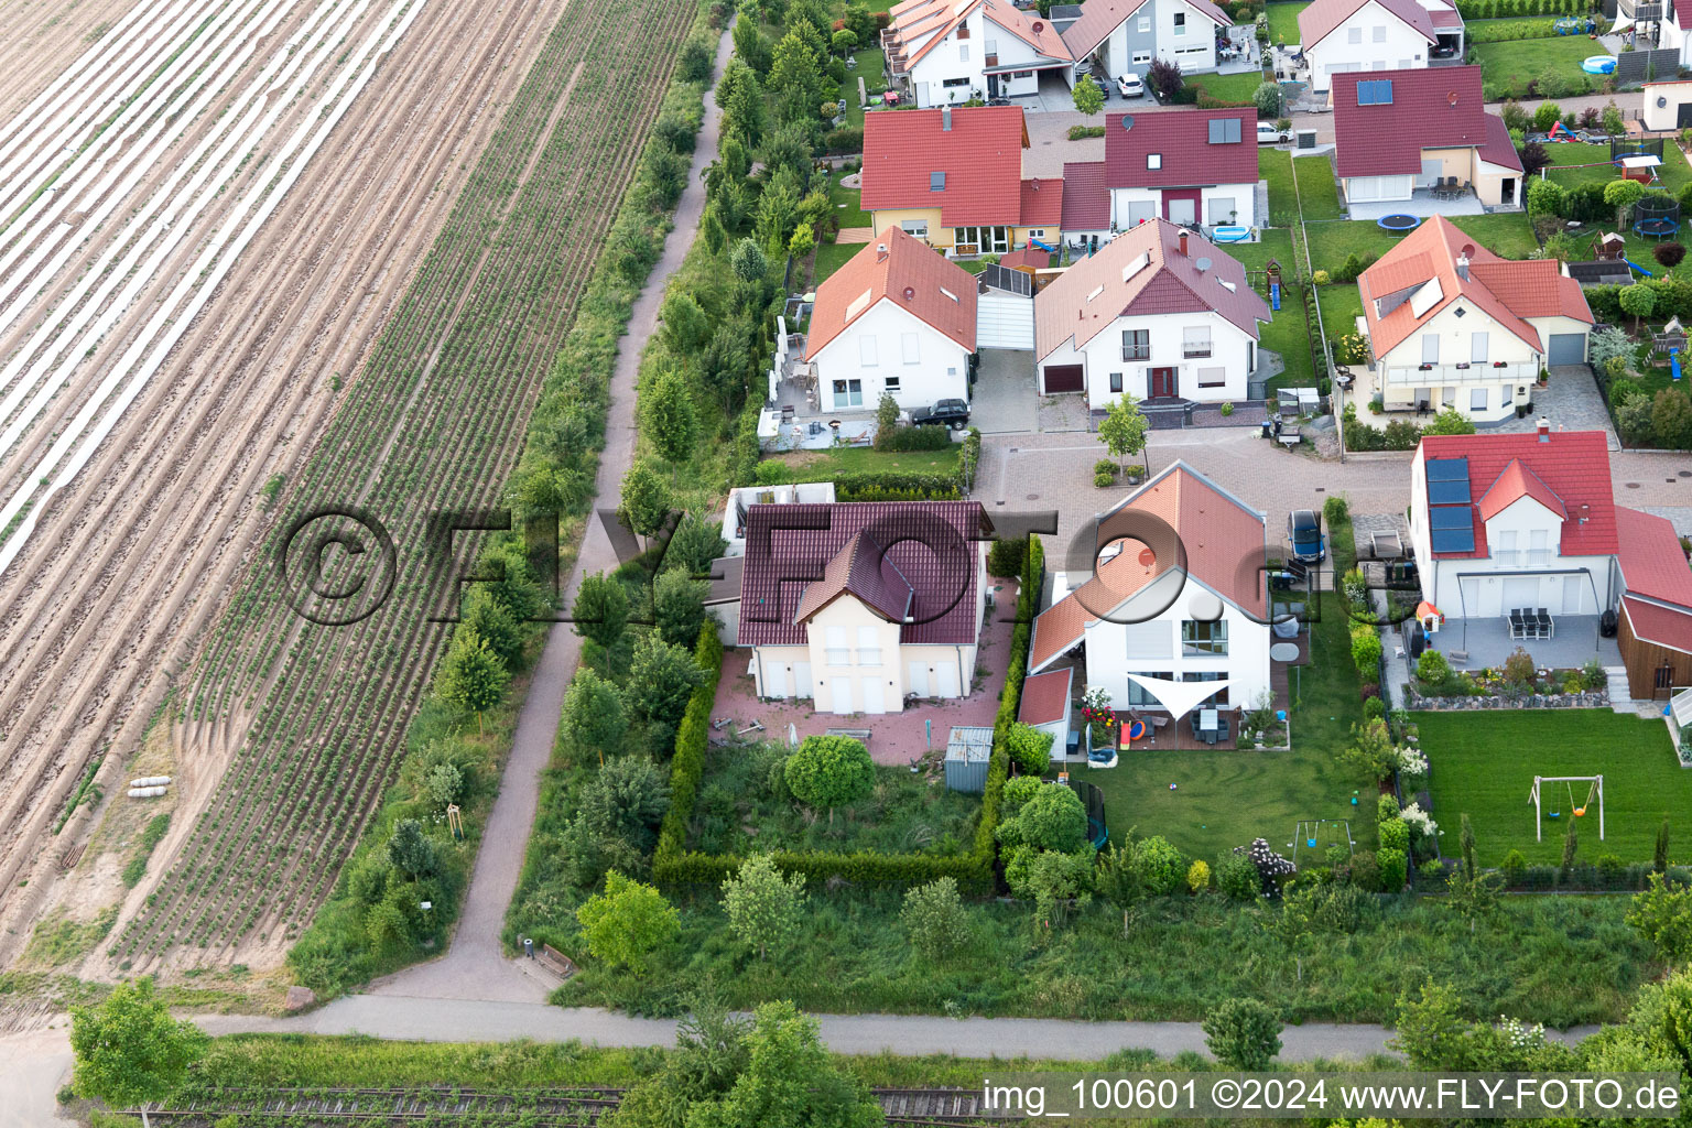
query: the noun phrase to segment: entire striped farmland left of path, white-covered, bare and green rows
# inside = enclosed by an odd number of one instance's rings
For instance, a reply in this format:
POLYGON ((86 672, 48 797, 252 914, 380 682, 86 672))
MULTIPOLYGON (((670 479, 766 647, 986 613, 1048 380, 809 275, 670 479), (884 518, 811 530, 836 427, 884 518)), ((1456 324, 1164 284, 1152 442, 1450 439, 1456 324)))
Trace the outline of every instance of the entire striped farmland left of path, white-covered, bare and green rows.
MULTIPOLYGON (((296 634, 266 590, 261 536, 313 504, 387 521, 396 499, 496 501, 629 140, 667 85, 663 68, 623 59, 636 29, 673 57, 692 17, 648 3, 616 30, 585 20, 548 37, 563 7, 0 12, 0 32, 20 36, 0 34, 0 959, 88 832, 88 807, 63 819, 69 795, 102 756, 93 778, 120 786, 173 685, 178 707, 223 704, 173 727, 179 813, 152 869, 213 793, 244 815, 269 802, 255 776, 218 785, 237 747, 250 763, 284 746, 289 693, 323 724, 335 693, 354 693, 360 724, 333 732, 357 751, 311 766, 349 766, 350 780, 313 775, 338 780, 338 803, 288 815, 291 834, 335 827, 313 841, 321 866, 305 878, 250 857, 306 898, 323 868, 333 876, 328 849, 391 764, 437 636, 416 636, 404 676, 367 682, 399 658, 362 649, 374 636, 296 634), (206 643, 212 660, 191 665, 206 643), (181 692, 190 676, 205 693, 181 692)), ((391 528, 415 533, 398 516, 391 528)), ((266 785, 321 798, 293 786, 293 766, 266 785)), ((294 861, 298 841, 267 846, 294 861)), ((161 910, 188 884, 173 871, 161 910)), ((149 874, 120 920, 151 895, 149 874)))

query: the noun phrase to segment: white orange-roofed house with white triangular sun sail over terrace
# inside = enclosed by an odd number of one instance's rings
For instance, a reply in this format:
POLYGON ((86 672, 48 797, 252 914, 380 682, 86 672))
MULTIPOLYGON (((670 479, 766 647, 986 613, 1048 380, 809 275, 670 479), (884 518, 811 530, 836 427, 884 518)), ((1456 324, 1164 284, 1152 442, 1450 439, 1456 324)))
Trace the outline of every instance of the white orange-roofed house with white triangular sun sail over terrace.
POLYGON ((1184 462, 1098 517, 1098 563, 1054 575, 1029 673, 1086 648, 1088 688, 1115 709, 1183 717, 1271 692, 1267 519, 1184 462))

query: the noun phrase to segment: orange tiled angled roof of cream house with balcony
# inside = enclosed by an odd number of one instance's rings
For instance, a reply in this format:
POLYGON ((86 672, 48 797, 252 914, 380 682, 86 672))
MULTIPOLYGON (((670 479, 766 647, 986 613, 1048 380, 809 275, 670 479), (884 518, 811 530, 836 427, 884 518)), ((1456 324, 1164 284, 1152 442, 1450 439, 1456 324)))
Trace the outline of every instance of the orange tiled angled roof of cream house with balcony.
POLYGON ((1540 331, 1524 318, 1560 315, 1592 325, 1580 284, 1562 277, 1555 259, 1499 259, 1443 215, 1430 218, 1381 255, 1357 277, 1357 289, 1376 357, 1384 357, 1430 318, 1465 298, 1535 352, 1545 352, 1545 347, 1540 331), (1467 279, 1457 276, 1459 254, 1469 255, 1467 279), (1440 298, 1420 318, 1409 301, 1381 316, 1379 299, 1435 279, 1440 298))

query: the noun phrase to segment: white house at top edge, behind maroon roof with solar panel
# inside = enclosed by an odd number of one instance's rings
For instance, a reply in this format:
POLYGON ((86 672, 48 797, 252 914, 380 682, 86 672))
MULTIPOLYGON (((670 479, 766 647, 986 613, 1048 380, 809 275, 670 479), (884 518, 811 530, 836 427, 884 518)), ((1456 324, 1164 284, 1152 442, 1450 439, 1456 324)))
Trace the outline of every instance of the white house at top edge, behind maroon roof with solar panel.
POLYGON ((1298 14, 1310 88, 1333 74, 1462 63, 1464 17, 1447 0, 1315 0, 1298 14))

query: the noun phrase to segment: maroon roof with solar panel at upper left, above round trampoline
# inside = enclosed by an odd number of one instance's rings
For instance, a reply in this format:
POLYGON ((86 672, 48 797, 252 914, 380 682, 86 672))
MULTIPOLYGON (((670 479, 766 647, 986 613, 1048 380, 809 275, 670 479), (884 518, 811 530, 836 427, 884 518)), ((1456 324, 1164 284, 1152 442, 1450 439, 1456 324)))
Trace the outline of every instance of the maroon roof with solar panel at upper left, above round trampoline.
MULTIPOLYGON (((1333 76, 1332 98, 1333 157, 1342 179, 1421 172, 1423 149, 1484 147, 1491 140, 1479 66, 1347 71, 1333 76), (1357 83, 1367 81, 1391 81, 1393 101, 1357 105, 1357 83)), ((1487 159, 1509 164, 1502 152, 1487 159)), ((1521 162, 1513 167, 1521 169, 1521 162)))

